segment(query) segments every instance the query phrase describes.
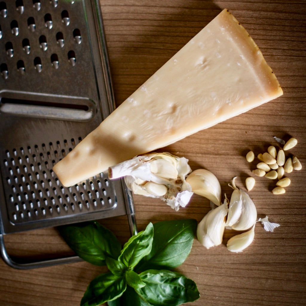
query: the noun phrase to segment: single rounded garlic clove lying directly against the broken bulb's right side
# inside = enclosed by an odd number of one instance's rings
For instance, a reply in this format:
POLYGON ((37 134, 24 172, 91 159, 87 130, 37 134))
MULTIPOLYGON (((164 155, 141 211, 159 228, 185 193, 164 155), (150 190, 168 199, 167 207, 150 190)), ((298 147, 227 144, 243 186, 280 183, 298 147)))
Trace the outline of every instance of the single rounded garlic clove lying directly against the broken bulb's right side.
POLYGON ((203 196, 216 205, 221 203, 221 186, 220 183, 210 171, 206 169, 197 169, 191 172, 186 178, 190 184, 192 192, 203 196))

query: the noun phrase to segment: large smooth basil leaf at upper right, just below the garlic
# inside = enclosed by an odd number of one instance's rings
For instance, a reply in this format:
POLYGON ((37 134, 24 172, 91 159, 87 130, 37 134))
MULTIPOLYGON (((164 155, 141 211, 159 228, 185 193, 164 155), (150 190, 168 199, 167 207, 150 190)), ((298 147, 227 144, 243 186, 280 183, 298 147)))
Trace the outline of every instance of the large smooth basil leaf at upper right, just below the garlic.
POLYGON ((180 266, 190 253, 196 233, 194 219, 161 221, 154 224, 151 252, 137 265, 137 271, 172 269, 180 266))

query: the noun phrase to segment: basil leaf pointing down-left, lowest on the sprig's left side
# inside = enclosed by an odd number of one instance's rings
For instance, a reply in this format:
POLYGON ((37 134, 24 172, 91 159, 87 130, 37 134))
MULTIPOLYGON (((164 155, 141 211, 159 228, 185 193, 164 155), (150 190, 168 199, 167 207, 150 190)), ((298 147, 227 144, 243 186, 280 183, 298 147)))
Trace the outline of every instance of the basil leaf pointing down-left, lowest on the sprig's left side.
POLYGON ((125 278, 111 272, 100 274, 91 281, 80 306, 97 306, 115 300, 126 290, 125 278))

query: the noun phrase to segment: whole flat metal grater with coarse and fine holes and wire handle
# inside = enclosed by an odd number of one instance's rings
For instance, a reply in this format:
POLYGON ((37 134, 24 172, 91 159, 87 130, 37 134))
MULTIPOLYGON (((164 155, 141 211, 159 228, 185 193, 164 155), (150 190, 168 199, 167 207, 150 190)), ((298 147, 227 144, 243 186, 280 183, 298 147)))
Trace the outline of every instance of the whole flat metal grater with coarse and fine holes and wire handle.
POLYGON ((0 2, 0 242, 17 268, 78 260, 17 263, 3 235, 128 215, 123 181, 99 174, 61 185, 52 167, 110 114, 114 99, 98 0, 0 2))

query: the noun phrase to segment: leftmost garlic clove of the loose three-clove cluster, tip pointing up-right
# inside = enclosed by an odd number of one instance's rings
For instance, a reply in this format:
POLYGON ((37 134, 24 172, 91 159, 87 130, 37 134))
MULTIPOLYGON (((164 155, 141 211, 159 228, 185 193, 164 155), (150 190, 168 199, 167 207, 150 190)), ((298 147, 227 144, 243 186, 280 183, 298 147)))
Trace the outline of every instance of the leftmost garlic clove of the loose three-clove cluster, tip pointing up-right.
POLYGON ((198 224, 196 236, 205 248, 211 248, 222 243, 225 229, 225 218, 228 203, 224 203, 209 211, 198 224))

